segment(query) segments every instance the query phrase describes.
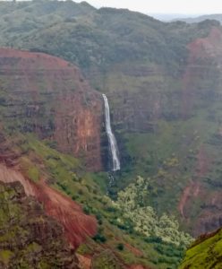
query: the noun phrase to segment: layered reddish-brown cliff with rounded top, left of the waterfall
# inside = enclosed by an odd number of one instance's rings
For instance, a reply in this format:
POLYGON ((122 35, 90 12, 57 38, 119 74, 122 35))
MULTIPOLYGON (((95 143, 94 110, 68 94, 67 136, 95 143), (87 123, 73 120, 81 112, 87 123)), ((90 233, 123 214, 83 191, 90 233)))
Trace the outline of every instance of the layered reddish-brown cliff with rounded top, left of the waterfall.
POLYGON ((0 86, 2 116, 12 131, 35 132, 81 158, 86 169, 102 169, 103 103, 77 67, 54 56, 1 48, 0 86))

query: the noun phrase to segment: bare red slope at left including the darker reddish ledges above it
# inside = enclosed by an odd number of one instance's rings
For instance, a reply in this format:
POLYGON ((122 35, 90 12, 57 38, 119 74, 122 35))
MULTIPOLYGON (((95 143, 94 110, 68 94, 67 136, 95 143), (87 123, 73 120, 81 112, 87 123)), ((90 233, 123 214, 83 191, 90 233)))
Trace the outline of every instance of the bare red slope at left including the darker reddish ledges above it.
MULTIPOLYGON (((18 135, 19 133, 17 133, 18 135)), ((42 204, 44 212, 60 223, 66 239, 74 248, 79 247, 88 237, 93 237, 97 233, 96 219, 83 213, 81 206, 72 199, 59 193, 53 187, 47 186, 46 174, 44 175, 40 168, 41 179, 31 177, 37 170, 31 161, 37 162, 38 157, 32 153, 32 158, 28 159, 27 152, 22 153, 18 147, 15 147, 15 143, 16 138, 5 138, 3 130, 1 130, 0 181, 4 183, 20 182, 25 195, 36 199, 38 203, 42 204), (27 169, 30 172, 27 173, 27 169)))

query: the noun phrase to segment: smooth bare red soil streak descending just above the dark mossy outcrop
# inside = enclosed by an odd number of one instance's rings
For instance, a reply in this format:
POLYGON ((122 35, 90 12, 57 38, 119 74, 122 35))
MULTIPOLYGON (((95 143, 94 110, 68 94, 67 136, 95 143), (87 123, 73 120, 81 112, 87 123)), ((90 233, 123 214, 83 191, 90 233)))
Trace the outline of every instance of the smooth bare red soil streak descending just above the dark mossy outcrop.
POLYGON ((44 205, 47 215, 54 217, 64 227, 64 232, 73 247, 78 247, 87 237, 97 232, 97 221, 82 212, 81 206, 72 199, 48 187, 44 182, 33 183, 22 176, 19 170, 0 164, 0 181, 21 182, 26 195, 36 197, 44 205))

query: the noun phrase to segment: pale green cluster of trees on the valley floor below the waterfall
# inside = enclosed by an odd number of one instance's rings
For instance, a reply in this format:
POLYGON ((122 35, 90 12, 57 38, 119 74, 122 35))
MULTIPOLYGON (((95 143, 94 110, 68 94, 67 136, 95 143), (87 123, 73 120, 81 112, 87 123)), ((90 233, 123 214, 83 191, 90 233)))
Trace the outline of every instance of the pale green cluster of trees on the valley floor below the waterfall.
POLYGON ((124 219, 133 223, 133 229, 144 234, 148 239, 158 238, 160 241, 188 246, 192 238, 188 234, 179 231, 179 224, 174 216, 163 214, 158 218, 155 210, 149 206, 149 180, 138 177, 135 183, 118 193, 115 206, 120 209, 120 217, 117 219, 124 224, 124 219))

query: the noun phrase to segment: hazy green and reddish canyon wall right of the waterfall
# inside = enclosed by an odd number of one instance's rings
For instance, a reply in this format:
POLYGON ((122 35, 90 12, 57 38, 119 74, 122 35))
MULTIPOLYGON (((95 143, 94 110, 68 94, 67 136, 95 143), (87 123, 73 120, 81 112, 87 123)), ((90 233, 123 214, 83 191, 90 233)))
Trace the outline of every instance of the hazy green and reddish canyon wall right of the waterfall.
POLYGON ((172 66, 118 64, 103 85, 127 173, 133 166, 152 177, 159 190, 153 203, 198 236, 221 226, 221 29, 212 26, 186 48, 175 73, 172 66))

